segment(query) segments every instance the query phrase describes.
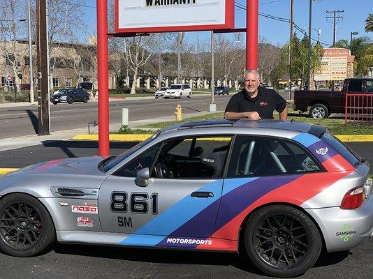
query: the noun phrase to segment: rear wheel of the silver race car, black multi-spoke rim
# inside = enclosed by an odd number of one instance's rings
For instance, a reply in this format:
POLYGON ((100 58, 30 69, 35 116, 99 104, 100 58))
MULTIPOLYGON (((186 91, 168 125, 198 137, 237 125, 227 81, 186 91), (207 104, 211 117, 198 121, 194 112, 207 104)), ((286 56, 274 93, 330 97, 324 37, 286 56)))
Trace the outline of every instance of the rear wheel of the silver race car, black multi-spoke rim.
POLYGON ((249 218, 244 247, 251 262, 264 273, 294 277, 316 263, 322 241, 319 229, 305 213, 274 205, 259 209, 249 218))

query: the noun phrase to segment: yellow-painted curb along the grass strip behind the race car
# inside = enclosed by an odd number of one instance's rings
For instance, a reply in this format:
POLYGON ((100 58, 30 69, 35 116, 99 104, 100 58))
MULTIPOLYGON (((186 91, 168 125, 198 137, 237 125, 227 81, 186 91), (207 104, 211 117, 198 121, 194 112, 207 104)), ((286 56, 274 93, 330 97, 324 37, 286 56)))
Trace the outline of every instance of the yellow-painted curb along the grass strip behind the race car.
MULTIPOLYGON (((109 135, 111 142, 142 142, 151 134, 133 134, 133 135, 109 135)), ((373 135, 336 135, 342 142, 373 142, 373 135)), ((75 135, 71 140, 92 140, 98 141, 98 135, 75 135)))

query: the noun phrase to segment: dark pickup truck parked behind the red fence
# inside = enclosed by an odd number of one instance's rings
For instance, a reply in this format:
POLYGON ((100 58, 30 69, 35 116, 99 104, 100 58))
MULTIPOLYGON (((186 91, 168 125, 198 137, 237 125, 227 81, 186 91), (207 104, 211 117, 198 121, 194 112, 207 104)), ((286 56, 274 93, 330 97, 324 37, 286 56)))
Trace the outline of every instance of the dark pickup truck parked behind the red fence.
POLYGON ((373 79, 346 79, 342 91, 297 90, 294 93, 293 109, 300 112, 309 110, 309 116, 312 118, 328 118, 332 113, 344 113, 345 93, 373 96, 373 79))

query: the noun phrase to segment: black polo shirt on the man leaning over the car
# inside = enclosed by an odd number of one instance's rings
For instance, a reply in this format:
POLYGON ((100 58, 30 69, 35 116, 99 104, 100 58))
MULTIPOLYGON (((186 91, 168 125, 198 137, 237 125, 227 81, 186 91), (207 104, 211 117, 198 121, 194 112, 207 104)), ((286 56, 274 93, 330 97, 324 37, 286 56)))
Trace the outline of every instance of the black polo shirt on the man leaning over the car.
POLYGON ((229 100, 226 112, 258 112, 262 119, 274 119, 273 111, 283 112, 286 100, 273 89, 258 87, 256 98, 250 98, 242 89, 229 100))

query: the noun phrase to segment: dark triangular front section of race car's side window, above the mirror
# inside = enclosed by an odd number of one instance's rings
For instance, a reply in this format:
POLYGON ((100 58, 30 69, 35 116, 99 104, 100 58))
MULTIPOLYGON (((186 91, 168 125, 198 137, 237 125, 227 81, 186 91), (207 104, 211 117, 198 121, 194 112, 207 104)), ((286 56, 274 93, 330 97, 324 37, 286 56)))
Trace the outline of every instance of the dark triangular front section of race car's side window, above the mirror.
POLYGON ((136 177, 138 171, 145 167, 152 167, 152 163, 156 156, 156 152, 159 149, 159 145, 152 147, 151 149, 145 151, 140 156, 131 160, 131 162, 124 165, 121 169, 115 172, 115 176, 123 177, 136 177))

